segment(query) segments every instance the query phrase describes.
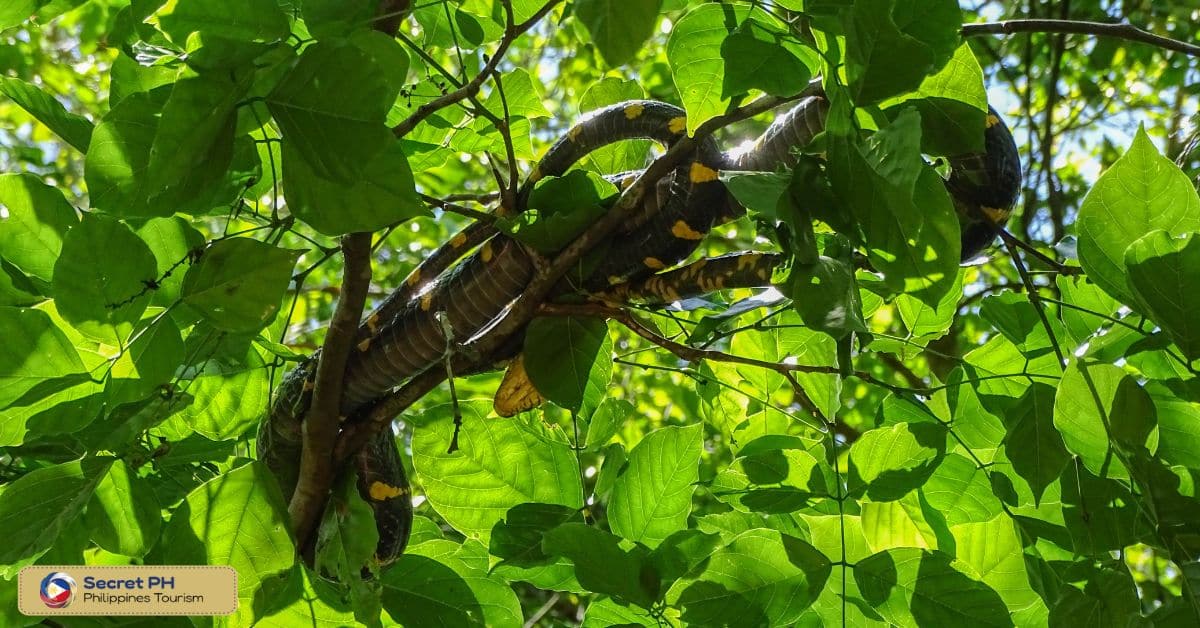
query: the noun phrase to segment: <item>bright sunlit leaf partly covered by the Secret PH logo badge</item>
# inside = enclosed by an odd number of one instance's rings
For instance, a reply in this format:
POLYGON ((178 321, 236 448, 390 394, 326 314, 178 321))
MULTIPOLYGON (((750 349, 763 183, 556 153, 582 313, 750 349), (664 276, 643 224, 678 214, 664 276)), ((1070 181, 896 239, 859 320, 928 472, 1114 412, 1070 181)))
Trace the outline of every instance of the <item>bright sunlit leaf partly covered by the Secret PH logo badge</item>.
POLYGON ((265 465, 250 462, 202 484, 163 531, 168 564, 228 564, 239 605, 253 606, 268 579, 295 566, 288 508, 265 465))

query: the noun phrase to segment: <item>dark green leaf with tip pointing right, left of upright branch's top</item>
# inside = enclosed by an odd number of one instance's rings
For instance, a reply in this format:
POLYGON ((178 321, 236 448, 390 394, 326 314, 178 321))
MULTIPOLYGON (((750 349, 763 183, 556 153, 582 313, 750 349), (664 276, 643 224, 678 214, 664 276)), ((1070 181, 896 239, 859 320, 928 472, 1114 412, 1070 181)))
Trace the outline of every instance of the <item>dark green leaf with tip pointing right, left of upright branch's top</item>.
POLYGON ((258 331, 275 319, 299 257, 248 238, 221 240, 187 269, 184 303, 217 329, 258 331))

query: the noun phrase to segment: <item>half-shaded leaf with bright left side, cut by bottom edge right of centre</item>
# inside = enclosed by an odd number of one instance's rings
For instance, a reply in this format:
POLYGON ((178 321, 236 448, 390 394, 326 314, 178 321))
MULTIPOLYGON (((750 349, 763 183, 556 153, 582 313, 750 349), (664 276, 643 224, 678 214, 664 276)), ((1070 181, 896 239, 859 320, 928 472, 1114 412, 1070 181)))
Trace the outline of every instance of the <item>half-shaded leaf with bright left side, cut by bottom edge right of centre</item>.
POLYGON ((876 554, 854 566, 854 580, 871 608, 896 626, 1013 626, 1000 596, 938 551, 876 554))

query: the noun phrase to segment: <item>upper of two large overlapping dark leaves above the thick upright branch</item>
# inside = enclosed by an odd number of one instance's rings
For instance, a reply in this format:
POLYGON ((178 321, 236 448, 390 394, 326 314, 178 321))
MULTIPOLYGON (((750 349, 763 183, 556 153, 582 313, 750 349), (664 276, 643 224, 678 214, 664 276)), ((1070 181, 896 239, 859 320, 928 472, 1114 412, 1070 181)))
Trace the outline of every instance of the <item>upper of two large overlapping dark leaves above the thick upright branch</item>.
POLYGON ((353 183, 392 142, 384 121, 397 91, 386 68, 361 48, 317 42, 280 79, 266 104, 313 172, 353 183))

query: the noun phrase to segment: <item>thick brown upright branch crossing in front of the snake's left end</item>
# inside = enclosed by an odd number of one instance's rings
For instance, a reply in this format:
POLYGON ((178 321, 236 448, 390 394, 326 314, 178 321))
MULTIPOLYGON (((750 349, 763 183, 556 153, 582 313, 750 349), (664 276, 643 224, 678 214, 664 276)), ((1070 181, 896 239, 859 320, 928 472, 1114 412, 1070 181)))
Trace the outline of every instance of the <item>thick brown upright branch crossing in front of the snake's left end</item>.
POLYGON ((312 536, 334 483, 332 451, 340 423, 342 378, 371 286, 371 234, 346 235, 342 238, 342 251, 346 261, 342 294, 317 361, 312 406, 304 420, 299 480, 288 504, 301 548, 312 536))

